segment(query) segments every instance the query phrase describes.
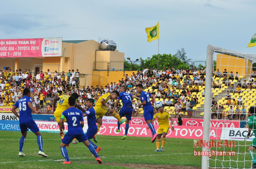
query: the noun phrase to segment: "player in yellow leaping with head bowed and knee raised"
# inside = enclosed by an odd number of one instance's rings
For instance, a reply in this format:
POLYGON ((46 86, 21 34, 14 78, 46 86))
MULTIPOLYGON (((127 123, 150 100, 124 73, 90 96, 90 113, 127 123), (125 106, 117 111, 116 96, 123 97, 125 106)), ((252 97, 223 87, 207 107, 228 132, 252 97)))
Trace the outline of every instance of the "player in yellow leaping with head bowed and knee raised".
MULTIPOLYGON (((122 124, 123 122, 125 122, 125 119, 121 119, 119 114, 115 112, 114 109, 107 107, 107 102, 109 99, 115 100, 117 97, 119 96, 119 92, 117 91, 113 91, 112 93, 107 93, 107 94, 103 94, 96 102, 94 110, 96 113, 96 119, 97 119, 97 123, 98 123, 98 131, 101 128, 102 125, 102 118, 105 114, 107 113, 111 113, 115 119, 118 120, 118 122, 120 124, 122 124)), ((97 132, 98 132, 97 131, 97 132)), ((94 136, 94 141, 97 143, 97 139, 94 136)))

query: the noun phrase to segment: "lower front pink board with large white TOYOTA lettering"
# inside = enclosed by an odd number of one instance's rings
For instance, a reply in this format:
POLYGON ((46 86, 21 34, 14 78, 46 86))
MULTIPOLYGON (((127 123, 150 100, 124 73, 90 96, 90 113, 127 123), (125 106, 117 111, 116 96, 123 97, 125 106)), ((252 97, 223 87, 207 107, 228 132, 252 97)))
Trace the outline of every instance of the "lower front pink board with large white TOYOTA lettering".
MULTIPOLYGON (((155 130, 158 130, 158 125, 154 125, 155 130)), ((128 136, 134 137, 152 137, 151 131, 148 129, 148 125, 129 125, 128 136)), ((174 126, 175 131, 169 129, 167 138, 190 138, 190 139, 202 139, 203 127, 202 126, 174 126)), ((103 124, 101 125, 98 135, 108 136, 123 136, 125 132, 125 125, 121 125, 121 132, 117 133, 117 125, 115 124, 103 124)), ((210 139, 219 139, 221 136, 221 128, 211 128, 210 139)))

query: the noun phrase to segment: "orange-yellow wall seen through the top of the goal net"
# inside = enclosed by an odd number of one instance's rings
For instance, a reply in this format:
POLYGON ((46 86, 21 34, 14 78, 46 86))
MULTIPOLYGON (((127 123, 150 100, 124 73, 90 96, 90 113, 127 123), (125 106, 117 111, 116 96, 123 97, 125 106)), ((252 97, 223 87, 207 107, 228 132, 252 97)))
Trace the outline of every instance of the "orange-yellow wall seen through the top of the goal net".
POLYGON ((216 69, 219 69, 221 72, 227 69, 228 73, 233 71, 234 74, 238 72, 239 75, 245 77, 249 76, 252 72, 252 62, 235 56, 217 54, 216 69))

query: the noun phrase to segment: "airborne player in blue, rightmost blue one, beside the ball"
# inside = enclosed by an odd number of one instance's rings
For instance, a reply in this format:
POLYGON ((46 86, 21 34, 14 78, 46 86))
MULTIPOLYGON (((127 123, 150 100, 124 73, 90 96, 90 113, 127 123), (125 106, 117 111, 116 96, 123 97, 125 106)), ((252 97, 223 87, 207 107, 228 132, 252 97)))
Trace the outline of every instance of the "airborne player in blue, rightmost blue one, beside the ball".
POLYGON ((153 103, 155 103, 155 96, 152 94, 149 94, 147 92, 144 92, 142 90, 142 84, 137 84, 136 85, 136 91, 137 93, 141 94, 141 103, 139 104, 139 106, 143 106, 143 110, 144 110, 144 119, 146 121, 146 123, 148 124, 148 127, 150 128, 151 132, 152 132, 152 140, 151 143, 155 142, 155 139, 157 137, 157 133, 155 132, 155 127, 152 124, 153 123, 153 117, 154 117, 154 109, 151 105, 150 102, 150 97, 152 97, 153 99, 153 103))

